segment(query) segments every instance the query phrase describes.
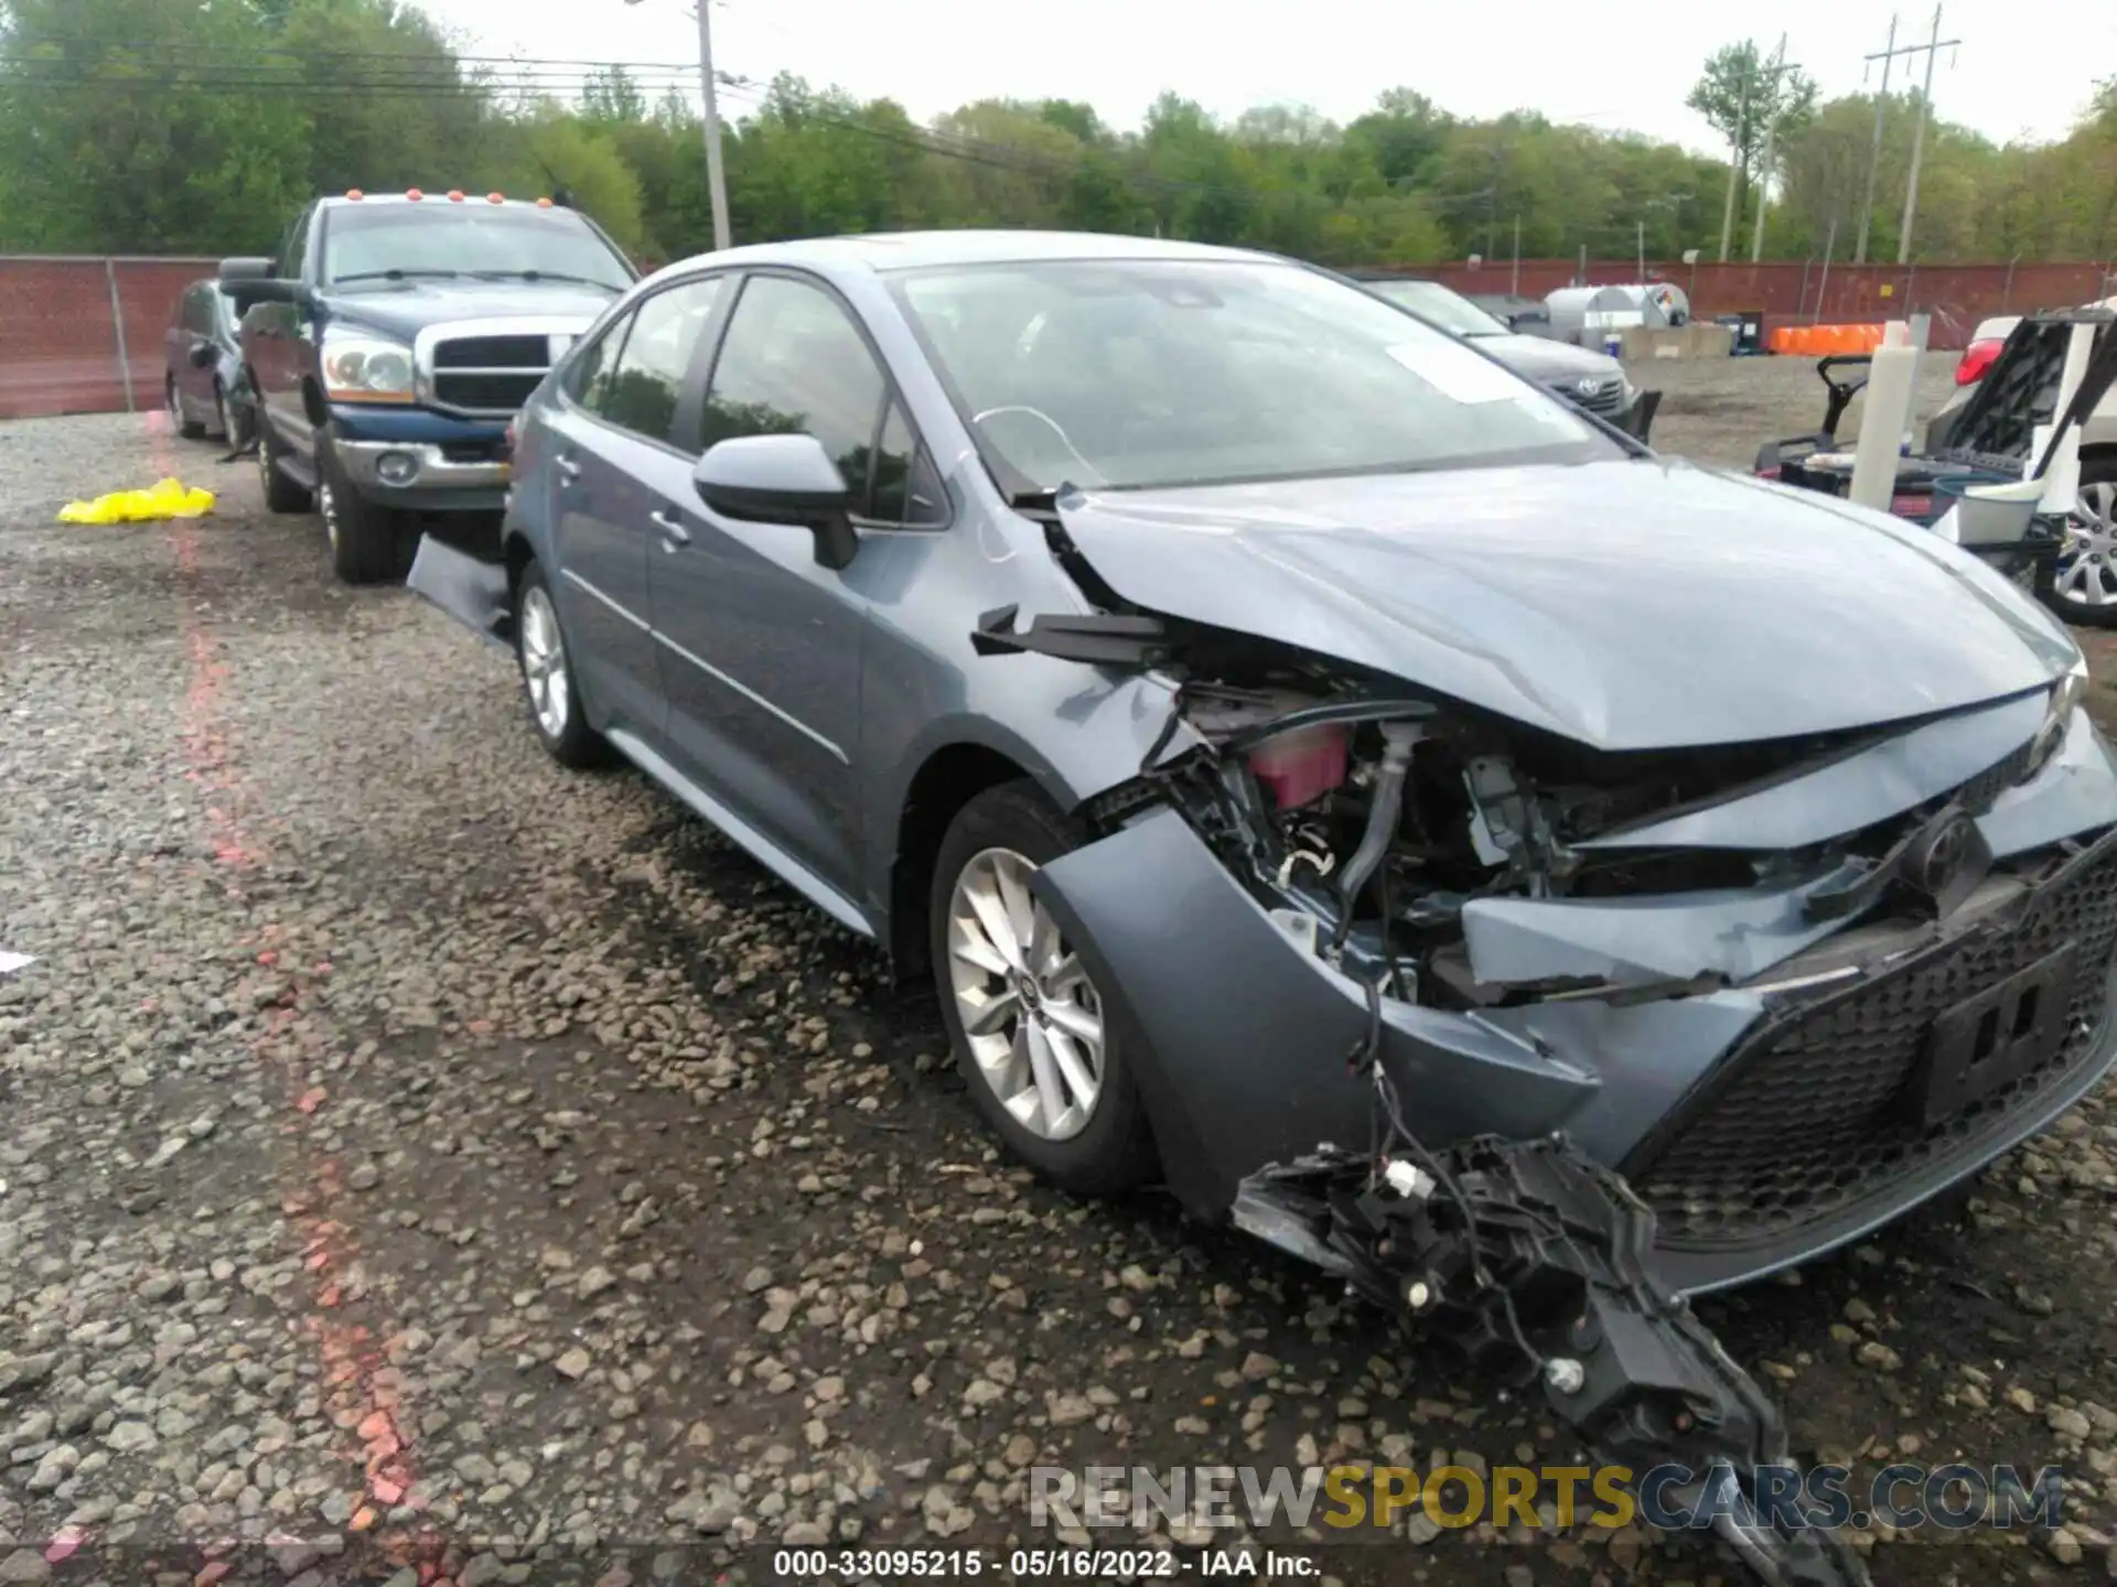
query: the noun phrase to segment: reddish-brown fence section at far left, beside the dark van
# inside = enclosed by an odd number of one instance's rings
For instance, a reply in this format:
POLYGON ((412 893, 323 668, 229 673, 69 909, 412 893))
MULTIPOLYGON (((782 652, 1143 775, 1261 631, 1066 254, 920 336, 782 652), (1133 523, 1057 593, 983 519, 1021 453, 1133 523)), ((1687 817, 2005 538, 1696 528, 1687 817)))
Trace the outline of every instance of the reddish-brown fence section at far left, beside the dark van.
POLYGON ((112 281, 123 311, 131 406, 161 406, 163 334, 212 258, 0 256, 0 419, 125 413, 112 281))

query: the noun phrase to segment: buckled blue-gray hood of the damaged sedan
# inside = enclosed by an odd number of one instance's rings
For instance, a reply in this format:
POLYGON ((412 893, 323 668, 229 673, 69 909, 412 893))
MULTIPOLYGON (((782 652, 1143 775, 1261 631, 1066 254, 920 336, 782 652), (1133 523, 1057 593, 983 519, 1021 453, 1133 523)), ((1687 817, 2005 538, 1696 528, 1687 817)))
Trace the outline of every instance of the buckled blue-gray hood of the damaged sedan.
POLYGON ((1067 493, 1126 601, 1600 749, 1952 711, 2079 656, 1929 531, 1672 459, 1067 493))

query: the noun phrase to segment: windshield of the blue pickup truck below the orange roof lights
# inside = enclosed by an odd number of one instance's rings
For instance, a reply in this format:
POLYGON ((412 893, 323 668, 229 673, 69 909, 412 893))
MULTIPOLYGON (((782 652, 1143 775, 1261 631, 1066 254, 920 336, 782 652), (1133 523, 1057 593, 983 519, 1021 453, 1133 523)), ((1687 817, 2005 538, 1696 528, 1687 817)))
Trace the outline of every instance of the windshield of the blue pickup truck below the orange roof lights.
POLYGON ((538 271, 622 292, 633 277, 572 209, 468 203, 345 203, 324 218, 324 279, 538 271))

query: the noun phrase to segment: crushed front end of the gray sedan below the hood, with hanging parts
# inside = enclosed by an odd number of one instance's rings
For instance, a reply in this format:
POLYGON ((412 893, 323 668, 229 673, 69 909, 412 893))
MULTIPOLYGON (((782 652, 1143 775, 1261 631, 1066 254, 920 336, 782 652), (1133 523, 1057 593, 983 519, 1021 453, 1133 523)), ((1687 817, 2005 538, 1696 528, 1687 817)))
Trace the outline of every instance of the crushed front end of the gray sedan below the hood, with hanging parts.
POLYGON ((1143 614, 987 654, 1173 690, 1037 891, 1133 1041, 1171 1187, 1698 1473, 1766 1581, 1768 1397, 1683 1295, 1901 1215, 2109 1069, 2117 762, 2085 673, 1761 745, 1600 751, 1143 614))

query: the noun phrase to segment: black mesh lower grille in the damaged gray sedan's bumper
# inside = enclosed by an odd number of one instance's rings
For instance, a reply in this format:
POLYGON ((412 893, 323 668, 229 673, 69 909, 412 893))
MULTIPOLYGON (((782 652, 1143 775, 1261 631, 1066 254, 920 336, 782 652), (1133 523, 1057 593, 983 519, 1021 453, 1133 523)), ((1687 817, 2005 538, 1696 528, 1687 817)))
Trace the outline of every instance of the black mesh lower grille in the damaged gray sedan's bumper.
POLYGON ((1795 1244, 1863 1202, 1888 1210, 1903 1179, 1977 1162, 2039 1096, 2081 1077, 2102 1045, 2117 946, 2117 836, 2075 857, 2005 920, 1859 986, 1768 1014, 1624 1166, 1653 1206, 1658 1244, 1795 1244), (1926 1126, 1912 1088, 1935 1016, 2066 944, 2077 978, 2066 1039, 2041 1066, 1926 1126))

